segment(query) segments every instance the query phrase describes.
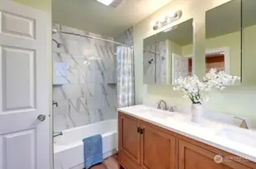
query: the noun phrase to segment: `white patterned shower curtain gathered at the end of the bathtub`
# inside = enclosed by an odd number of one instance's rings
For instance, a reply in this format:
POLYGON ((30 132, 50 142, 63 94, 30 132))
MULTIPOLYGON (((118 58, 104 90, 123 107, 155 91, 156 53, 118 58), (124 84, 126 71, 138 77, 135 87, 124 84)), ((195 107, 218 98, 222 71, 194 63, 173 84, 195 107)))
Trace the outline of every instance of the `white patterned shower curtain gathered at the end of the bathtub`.
POLYGON ((134 50, 117 47, 117 98, 119 107, 134 105, 134 50))

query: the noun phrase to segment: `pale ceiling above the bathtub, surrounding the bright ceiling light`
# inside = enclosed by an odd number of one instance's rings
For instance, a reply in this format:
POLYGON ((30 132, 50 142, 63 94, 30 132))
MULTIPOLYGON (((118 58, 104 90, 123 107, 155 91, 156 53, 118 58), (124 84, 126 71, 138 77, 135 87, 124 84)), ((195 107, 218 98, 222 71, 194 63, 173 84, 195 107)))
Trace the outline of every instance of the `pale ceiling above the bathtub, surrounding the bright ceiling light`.
POLYGON ((54 23, 116 37, 171 1, 124 0, 113 8, 96 0, 53 0, 52 17, 54 23))

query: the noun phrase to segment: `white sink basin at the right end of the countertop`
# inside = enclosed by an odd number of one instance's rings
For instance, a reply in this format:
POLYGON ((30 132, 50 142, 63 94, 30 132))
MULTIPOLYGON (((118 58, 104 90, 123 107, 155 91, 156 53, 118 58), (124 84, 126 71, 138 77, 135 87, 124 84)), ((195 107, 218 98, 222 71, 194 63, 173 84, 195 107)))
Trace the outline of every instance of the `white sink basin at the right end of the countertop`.
POLYGON ((256 147, 256 132, 236 127, 225 127, 217 132, 217 136, 256 147))

